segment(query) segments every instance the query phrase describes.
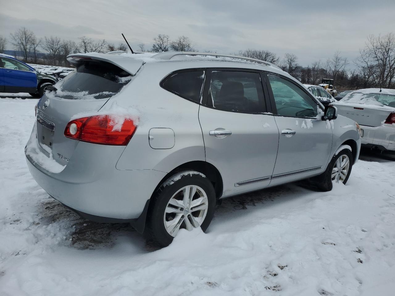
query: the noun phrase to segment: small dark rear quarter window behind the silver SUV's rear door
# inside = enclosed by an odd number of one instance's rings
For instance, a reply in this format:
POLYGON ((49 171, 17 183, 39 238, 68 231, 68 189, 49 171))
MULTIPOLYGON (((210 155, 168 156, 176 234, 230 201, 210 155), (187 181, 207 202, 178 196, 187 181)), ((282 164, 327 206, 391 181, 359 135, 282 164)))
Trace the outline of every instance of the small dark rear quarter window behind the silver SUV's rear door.
POLYGON ((176 72, 168 75, 160 85, 184 99, 200 103, 204 74, 204 70, 176 72))

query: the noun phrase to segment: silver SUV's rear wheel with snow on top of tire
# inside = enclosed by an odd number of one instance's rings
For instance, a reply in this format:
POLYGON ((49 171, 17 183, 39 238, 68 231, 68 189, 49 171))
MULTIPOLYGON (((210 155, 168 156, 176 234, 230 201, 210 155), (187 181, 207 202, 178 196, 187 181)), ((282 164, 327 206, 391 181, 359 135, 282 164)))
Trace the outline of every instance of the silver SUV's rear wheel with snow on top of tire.
POLYGON ((215 206, 215 191, 209 179, 198 172, 175 174, 152 197, 146 234, 166 247, 180 229, 207 230, 215 206))

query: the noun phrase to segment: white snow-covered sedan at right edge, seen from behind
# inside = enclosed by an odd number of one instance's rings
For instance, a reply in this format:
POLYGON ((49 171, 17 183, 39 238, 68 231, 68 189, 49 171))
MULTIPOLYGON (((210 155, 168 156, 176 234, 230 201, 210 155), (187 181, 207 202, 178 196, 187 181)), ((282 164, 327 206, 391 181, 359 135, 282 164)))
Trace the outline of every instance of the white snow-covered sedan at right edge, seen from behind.
POLYGON ((355 90, 332 105, 361 126, 362 144, 395 151, 395 90, 355 90))

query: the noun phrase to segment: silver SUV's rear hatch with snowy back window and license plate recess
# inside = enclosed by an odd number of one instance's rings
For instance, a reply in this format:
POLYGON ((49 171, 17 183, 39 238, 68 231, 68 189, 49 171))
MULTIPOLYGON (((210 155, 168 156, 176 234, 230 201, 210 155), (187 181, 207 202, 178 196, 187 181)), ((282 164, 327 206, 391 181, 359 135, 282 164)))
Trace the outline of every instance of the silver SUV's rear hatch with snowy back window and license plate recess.
MULTIPOLYGON (((67 165, 78 142, 64 136, 71 118, 94 114, 138 71, 125 71, 111 62, 80 58, 76 69, 47 91, 37 105, 37 139, 41 152, 67 165)), ((142 62, 140 62, 141 66, 142 62)))

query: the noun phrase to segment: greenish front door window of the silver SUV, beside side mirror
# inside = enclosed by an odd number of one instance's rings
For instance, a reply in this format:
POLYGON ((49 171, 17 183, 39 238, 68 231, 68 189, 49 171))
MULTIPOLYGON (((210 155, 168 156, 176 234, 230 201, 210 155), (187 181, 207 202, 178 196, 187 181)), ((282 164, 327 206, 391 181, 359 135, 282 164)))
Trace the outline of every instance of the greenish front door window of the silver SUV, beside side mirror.
POLYGON ((317 116, 317 104, 300 87, 274 75, 267 75, 276 103, 277 114, 291 117, 317 116))

